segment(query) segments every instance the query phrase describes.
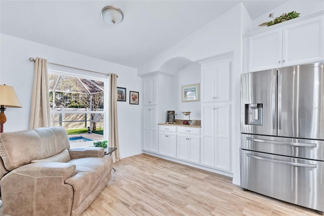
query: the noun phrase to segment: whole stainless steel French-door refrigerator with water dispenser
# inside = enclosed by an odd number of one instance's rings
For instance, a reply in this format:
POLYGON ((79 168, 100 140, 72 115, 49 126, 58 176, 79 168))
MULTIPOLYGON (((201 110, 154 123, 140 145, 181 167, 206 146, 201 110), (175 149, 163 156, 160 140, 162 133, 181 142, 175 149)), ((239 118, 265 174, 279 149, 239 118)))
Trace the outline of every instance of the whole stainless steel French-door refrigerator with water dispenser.
POLYGON ((241 75, 241 187, 324 211, 323 62, 241 75))

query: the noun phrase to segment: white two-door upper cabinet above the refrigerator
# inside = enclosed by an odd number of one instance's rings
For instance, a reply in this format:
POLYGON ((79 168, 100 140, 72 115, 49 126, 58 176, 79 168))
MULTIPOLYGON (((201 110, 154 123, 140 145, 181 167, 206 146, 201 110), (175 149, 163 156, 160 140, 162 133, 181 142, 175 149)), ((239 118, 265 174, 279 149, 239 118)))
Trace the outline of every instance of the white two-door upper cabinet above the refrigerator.
POLYGON ((324 12, 296 18, 244 36, 244 72, 324 60, 324 12))

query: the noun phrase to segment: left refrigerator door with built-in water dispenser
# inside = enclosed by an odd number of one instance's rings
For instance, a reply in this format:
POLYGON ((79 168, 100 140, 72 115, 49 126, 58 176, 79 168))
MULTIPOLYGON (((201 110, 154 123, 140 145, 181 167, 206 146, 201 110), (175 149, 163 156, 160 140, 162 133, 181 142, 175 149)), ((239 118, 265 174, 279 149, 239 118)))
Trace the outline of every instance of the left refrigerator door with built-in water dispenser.
POLYGON ((276 74, 273 69, 241 75, 241 133, 277 135, 276 74), (254 109, 248 113, 251 108, 254 109), (248 119, 251 115, 256 120, 248 119))

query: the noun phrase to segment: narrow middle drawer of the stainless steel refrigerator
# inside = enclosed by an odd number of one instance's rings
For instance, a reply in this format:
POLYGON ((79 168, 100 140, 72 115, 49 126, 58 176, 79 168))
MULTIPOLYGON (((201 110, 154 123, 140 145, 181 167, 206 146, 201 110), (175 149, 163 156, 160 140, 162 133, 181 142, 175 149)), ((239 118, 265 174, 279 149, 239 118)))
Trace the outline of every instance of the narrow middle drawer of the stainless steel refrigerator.
POLYGON ((305 159, 324 161, 324 141, 258 135, 241 135, 241 148, 305 159))

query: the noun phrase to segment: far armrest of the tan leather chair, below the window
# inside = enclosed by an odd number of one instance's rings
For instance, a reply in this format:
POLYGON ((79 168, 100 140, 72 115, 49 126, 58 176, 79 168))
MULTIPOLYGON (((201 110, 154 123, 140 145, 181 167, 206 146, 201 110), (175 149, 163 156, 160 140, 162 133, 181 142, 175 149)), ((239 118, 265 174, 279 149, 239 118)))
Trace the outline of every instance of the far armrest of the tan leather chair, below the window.
POLYGON ((69 149, 71 159, 84 157, 103 157, 105 155, 104 148, 100 147, 79 147, 69 149))

